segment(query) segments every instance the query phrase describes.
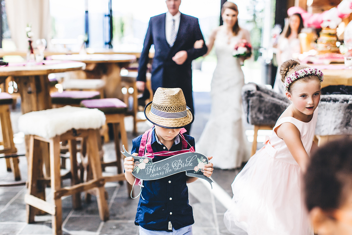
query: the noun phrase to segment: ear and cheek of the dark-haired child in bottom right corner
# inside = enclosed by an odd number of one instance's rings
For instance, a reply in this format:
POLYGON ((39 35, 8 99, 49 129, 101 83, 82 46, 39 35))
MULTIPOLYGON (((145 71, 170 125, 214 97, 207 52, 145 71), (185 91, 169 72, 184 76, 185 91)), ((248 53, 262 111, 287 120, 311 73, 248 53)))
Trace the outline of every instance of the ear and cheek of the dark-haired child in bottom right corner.
POLYGON ((339 209, 323 211, 320 208, 314 208, 310 216, 314 230, 319 235, 352 234, 352 191, 339 209))

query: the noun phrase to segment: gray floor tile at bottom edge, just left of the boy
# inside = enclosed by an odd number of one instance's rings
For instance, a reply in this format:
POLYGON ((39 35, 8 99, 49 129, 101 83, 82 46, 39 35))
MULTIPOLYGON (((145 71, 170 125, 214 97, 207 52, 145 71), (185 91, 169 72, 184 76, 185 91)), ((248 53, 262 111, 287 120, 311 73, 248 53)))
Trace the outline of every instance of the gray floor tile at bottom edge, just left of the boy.
POLYGON ((136 235, 139 227, 133 222, 107 221, 104 223, 101 235, 136 235))

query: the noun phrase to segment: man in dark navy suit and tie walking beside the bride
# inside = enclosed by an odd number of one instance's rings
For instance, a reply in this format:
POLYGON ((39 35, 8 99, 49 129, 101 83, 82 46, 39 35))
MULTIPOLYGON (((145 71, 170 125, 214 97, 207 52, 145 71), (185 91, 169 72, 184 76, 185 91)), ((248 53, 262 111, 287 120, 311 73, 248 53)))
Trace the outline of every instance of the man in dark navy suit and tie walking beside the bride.
MULTIPOLYGON (((152 63, 152 89, 158 87, 181 88, 187 106, 193 108, 192 60, 204 55, 207 47, 199 27, 198 19, 180 13, 181 0, 166 0, 168 12, 150 18, 142 54, 139 58, 137 88, 143 91, 149 49, 154 44, 155 54, 152 63), (201 41, 200 48, 194 43, 201 41)), ((186 127, 187 132, 190 126, 186 127)))

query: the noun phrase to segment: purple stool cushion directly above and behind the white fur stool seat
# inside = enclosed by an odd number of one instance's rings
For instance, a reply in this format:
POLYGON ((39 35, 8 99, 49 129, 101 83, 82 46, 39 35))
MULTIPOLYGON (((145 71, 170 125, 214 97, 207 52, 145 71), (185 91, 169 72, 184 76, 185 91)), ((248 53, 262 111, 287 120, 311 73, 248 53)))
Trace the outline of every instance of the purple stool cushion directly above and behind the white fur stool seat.
POLYGON ((82 100, 99 98, 99 91, 63 91, 51 94, 53 104, 80 104, 82 100))

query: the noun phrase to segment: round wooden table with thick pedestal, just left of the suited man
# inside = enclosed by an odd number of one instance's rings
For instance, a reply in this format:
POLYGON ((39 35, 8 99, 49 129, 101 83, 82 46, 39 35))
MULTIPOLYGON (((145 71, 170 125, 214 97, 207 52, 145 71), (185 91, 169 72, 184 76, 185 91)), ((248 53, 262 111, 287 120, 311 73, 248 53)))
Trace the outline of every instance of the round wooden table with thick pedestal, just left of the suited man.
POLYGON ((53 55, 52 60, 81 61, 87 64, 84 70, 86 78, 101 78, 105 80, 104 97, 123 99, 121 92, 120 71, 122 67, 136 61, 135 55, 126 54, 76 54, 53 55))

